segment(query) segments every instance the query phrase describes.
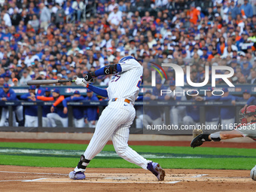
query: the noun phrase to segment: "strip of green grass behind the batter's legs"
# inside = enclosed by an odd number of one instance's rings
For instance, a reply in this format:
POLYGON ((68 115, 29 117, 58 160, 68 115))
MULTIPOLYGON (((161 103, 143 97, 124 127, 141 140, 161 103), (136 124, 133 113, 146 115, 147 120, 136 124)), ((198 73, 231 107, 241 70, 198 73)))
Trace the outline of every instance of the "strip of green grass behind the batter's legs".
MULTIPOLYGON (((41 167, 74 167, 87 145, 78 144, 51 144, 51 143, 13 143, 0 142, 0 164, 16 166, 41 166, 41 167), (35 149, 31 154, 26 152, 8 152, 5 149, 35 149), (68 151, 69 154, 36 154, 37 151, 68 151), (2 151, 1 151, 2 150, 2 151), (74 152, 74 154, 72 154, 74 152)), ((256 164, 256 149, 246 148, 190 148, 166 146, 135 146, 135 151, 142 155, 160 155, 168 158, 151 158, 170 169, 251 169, 256 164), (170 157, 169 157, 170 156, 170 157), (194 158, 197 157, 197 158, 194 158)), ((112 145, 105 145, 104 152, 114 153, 112 145)), ((120 157, 95 157, 90 162, 90 167, 105 168, 139 168, 120 157)))

